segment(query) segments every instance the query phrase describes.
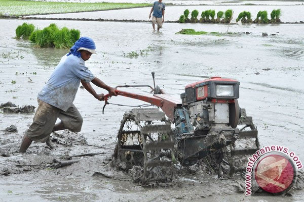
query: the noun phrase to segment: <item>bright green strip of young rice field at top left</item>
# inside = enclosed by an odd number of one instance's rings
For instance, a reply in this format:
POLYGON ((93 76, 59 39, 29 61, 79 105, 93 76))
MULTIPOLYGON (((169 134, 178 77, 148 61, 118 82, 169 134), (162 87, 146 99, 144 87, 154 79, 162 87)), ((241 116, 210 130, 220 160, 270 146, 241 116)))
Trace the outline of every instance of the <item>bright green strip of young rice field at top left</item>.
POLYGON ((147 7, 147 3, 71 3, 0 0, 0 13, 9 15, 33 15, 46 13, 70 13, 83 11, 111 10, 118 8, 147 7))

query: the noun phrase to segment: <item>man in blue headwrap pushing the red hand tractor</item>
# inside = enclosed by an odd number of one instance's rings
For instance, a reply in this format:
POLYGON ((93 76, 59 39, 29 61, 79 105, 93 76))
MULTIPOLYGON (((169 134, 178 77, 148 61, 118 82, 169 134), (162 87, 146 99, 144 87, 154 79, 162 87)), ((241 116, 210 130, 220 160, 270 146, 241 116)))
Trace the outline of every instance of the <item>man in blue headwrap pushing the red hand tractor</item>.
POLYGON ((103 100, 104 94, 97 94, 90 82, 109 91, 110 95, 117 95, 115 88, 95 77, 85 66, 85 61, 90 59, 93 53, 96 54, 95 49, 95 43, 91 38, 81 37, 70 52, 61 58, 47 84, 38 94, 39 106, 33 123, 22 139, 21 153, 27 150, 32 141, 46 142, 53 148, 50 141, 51 132, 64 129, 74 132, 81 130, 83 120, 73 104, 80 82, 98 100, 103 100), (61 121, 55 124, 57 118, 61 121))

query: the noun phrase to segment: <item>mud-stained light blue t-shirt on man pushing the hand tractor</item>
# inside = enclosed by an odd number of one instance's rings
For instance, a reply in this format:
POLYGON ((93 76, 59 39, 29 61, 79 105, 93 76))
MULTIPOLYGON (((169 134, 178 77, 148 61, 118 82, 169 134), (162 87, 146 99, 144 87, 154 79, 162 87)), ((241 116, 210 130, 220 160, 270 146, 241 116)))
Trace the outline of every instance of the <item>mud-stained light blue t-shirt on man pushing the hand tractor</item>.
POLYGON ((38 99, 67 111, 79 88, 80 80, 89 83, 94 75, 85 66, 85 61, 75 55, 63 56, 38 94, 38 99))

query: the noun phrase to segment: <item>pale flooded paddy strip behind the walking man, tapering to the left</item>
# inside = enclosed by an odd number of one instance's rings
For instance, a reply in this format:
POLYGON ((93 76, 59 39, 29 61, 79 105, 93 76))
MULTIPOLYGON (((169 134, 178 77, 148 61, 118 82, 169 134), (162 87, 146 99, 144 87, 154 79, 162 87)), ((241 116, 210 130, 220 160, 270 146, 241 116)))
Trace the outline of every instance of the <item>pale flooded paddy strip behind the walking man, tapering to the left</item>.
MULTIPOLYGON (((257 13, 260 10, 266 10, 270 18, 270 13, 273 9, 281 9, 282 16, 280 17, 282 22, 300 22, 304 21, 302 17, 302 11, 304 5, 187 5, 187 6, 167 6, 165 12, 165 20, 176 21, 179 19, 180 15, 183 14, 185 9, 189 9, 191 12, 197 9, 200 13, 208 9, 215 9, 216 12, 227 9, 233 10, 233 19, 231 22, 235 22, 235 19, 240 12, 244 10, 251 12, 251 18, 254 20, 257 13)), ((33 17, 46 17, 46 18, 90 18, 90 19, 134 19, 134 20, 148 20, 150 8, 130 8, 122 10, 110 10, 110 11, 95 11, 95 12, 82 12, 82 13, 62 13, 62 14, 52 14, 52 15, 32 15, 33 17), (117 15, 119 13, 119 15, 117 15), (130 13, 136 13, 136 15, 130 15, 130 13)), ((190 15, 191 16, 191 15, 190 15)))

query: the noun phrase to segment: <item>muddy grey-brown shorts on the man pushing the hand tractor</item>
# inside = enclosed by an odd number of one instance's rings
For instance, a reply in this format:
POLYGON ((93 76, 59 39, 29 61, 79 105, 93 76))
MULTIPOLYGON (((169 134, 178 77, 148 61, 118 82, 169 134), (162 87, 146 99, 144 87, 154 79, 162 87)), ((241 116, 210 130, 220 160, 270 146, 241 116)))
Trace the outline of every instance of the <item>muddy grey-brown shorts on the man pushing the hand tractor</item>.
POLYGON ((73 104, 67 111, 47 104, 38 99, 39 106, 33 118, 33 123, 26 130, 26 136, 36 142, 45 142, 53 131, 57 118, 60 118, 64 127, 73 132, 79 132, 82 126, 82 117, 73 104))

